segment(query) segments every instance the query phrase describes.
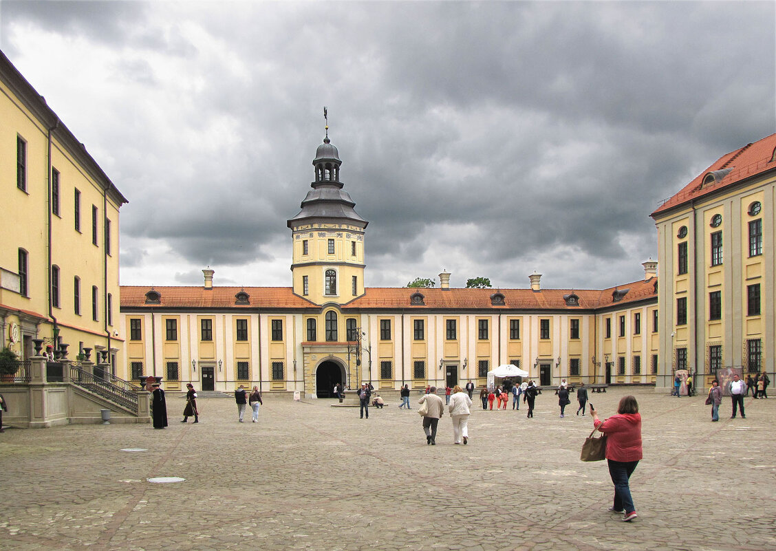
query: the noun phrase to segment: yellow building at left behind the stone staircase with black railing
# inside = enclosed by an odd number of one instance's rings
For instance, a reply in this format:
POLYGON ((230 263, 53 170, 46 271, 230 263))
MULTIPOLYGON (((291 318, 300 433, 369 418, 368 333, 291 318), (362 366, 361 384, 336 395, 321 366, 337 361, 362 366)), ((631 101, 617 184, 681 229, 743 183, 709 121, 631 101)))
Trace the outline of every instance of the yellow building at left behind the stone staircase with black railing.
POLYGON ((33 338, 123 366, 119 210, 127 203, 0 52, 0 346, 33 338))

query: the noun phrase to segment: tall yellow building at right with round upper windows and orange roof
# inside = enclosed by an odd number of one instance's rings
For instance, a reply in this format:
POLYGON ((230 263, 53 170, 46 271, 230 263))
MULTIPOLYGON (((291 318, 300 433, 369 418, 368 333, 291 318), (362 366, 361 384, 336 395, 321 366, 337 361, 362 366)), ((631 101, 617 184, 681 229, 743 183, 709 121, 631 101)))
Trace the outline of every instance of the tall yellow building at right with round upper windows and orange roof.
POLYGON ((722 155, 652 213, 667 376, 688 369, 708 384, 720 369, 773 375, 774 189, 771 134, 722 155))

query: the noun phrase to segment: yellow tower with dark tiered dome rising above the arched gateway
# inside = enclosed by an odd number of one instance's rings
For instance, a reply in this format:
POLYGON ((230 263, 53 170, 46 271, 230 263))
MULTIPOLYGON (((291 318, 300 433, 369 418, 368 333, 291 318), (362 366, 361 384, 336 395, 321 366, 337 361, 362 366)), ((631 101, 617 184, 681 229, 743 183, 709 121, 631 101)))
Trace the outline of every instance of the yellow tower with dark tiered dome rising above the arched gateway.
POLYGON ((327 132, 313 160, 315 181, 288 220, 293 292, 316 304, 344 304, 364 293, 364 230, 369 224, 340 182, 337 147, 327 132))

